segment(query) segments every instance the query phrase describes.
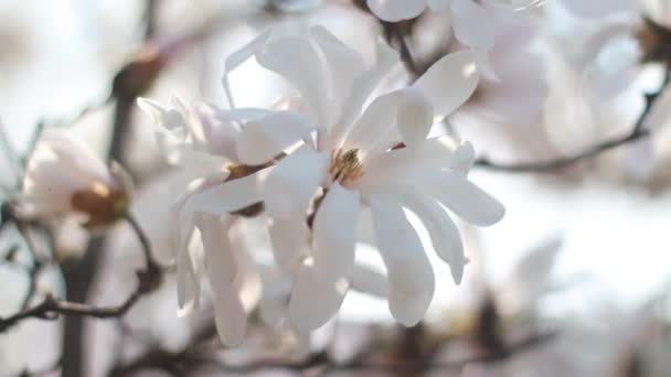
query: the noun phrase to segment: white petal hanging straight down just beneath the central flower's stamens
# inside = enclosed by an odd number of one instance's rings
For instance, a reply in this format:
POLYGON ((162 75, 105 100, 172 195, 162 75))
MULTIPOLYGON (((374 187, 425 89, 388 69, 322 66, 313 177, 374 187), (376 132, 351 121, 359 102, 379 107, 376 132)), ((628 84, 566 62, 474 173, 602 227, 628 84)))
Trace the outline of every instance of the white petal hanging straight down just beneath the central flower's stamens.
POLYGON ((322 279, 347 278, 354 265, 359 193, 334 183, 319 205, 312 230, 315 270, 322 279))

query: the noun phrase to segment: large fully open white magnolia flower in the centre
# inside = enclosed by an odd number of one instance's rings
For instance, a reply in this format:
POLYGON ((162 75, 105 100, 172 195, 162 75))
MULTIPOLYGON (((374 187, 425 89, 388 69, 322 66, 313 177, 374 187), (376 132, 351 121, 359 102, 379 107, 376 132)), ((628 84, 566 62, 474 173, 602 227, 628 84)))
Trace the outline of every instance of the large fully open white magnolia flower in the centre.
POLYGON ((311 28, 308 36, 266 33, 241 51, 235 62, 255 56, 294 85, 296 111, 221 112, 220 118, 243 123, 239 162, 260 168, 194 194, 183 212, 234 213, 262 202, 273 218, 278 265, 297 268, 289 315, 309 331, 338 311, 350 288, 358 218, 370 207, 387 269, 390 309, 401 323, 416 324, 433 298, 434 274, 404 208, 422 219, 456 281, 466 258, 446 208, 481 226, 497 223, 504 212, 467 180, 473 161, 469 143, 426 139, 434 119, 451 114, 473 91, 475 55, 450 54, 412 87, 366 105, 398 64, 384 43, 368 68, 321 28, 311 28), (306 216, 313 216, 311 229, 306 216))

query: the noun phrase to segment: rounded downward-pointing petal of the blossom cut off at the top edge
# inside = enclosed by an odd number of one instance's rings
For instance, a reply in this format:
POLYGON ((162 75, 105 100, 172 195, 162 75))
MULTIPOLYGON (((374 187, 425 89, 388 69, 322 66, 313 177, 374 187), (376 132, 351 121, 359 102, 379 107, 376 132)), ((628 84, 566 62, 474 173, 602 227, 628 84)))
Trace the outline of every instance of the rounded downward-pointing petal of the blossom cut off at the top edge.
POLYGON ((473 0, 452 2, 455 36, 467 46, 490 49, 494 44, 494 20, 489 11, 473 0))

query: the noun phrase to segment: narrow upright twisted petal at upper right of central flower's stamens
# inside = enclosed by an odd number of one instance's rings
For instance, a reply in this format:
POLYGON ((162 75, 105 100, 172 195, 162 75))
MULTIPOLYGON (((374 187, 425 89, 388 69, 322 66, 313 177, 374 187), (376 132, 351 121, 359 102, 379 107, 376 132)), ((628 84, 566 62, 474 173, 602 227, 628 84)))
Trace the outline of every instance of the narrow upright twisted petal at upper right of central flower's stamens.
POLYGON ((329 137, 330 144, 327 146, 330 150, 340 148, 345 134, 361 115, 361 109, 373 89, 377 87, 382 78, 398 62, 400 58, 396 50, 390 47, 384 40, 379 39, 375 45, 375 65, 354 80, 354 85, 345 99, 340 119, 331 129, 329 137))

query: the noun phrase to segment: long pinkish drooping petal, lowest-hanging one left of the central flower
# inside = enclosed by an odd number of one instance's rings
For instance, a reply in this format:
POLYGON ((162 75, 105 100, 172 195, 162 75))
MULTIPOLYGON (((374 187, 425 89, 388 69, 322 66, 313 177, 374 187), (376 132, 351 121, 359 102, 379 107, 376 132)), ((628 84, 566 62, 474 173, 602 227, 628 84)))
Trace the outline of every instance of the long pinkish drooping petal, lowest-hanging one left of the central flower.
POLYGON ((230 223, 222 224, 216 216, 198 216, 196 226, 205 251, 216 331, 224 345, 237 345, 245 336, 247 317, 234 286, 237 268, 228 238, 230 223))

